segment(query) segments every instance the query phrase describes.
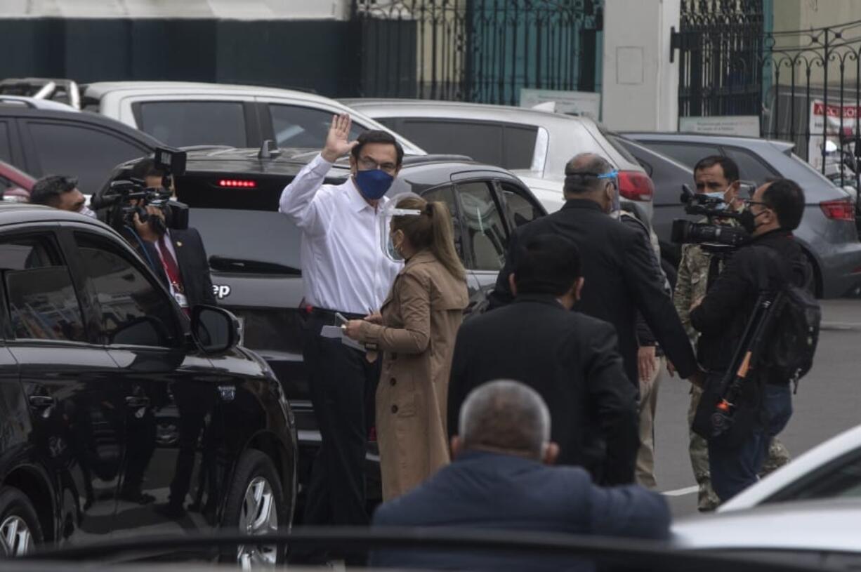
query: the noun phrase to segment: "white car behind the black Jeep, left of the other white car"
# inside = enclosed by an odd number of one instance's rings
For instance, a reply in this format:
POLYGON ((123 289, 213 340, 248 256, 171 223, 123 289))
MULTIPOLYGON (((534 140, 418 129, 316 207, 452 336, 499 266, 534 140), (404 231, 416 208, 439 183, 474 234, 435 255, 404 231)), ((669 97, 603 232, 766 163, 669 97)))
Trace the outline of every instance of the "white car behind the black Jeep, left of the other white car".
MULTIPOLYGON (((227 145, 320 149, 332 114, 350 114, 351 138, 389 131, 338 101, 292 89, 185 82, 104 82, 81 86, 81 105, 147 132, 173 147, 227 145)), ((424 151, 393 133, 411 155, 424 151)))

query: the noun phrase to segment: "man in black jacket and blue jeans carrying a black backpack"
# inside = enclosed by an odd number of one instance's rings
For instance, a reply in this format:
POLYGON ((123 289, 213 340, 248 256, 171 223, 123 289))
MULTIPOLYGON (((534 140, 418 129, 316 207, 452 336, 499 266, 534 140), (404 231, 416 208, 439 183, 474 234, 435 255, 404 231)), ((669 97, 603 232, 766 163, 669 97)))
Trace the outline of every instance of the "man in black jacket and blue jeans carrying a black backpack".
POLYGON ((777 304, 778 296, 808 285, 808 261, 792 235, 802 219, 804 193, 796 182, 779 179, 745 203, 736 218, 751 238, 713 279, 705 298, 693 300, 690 312, 709 372, 694 428, 708 440, 711 483, 721 501, 759 478, 772 438, 792 414, 790 381, 806 372, 797 369, 793 376, 775 365, 771 348, 784 344, 785 331, 764 325, 783 324, 782 314, 793 307, 777 304), (729 385, 740 391, 728 397, 729 385), (715 409, 728 413, 715 415, 715 409))

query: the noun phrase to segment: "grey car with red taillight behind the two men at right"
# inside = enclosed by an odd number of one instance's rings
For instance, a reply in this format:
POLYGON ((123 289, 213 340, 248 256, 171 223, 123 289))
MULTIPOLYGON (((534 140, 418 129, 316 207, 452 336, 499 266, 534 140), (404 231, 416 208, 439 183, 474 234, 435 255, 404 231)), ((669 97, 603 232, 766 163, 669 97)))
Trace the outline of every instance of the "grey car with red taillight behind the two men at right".
POLYGON ((852 197, 793 153, 792 143, 694 133, 623 135, 691 170, 703 157, 724 155, 739 165, 743 180, 761 184, 772 177, 784 177, 796 181, 804 189, 807 208, 795 234, 814 265, 816 293, 835 298, 855 293, 861 286, 861 243, 852 197))

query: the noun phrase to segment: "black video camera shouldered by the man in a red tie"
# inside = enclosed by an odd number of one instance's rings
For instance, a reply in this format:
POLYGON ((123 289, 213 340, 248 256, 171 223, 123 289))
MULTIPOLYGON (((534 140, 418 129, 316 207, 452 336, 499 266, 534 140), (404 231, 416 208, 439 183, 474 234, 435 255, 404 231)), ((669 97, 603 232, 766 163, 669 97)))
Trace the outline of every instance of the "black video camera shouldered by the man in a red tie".
MULTIPOLYGON (((185 151, 158 147, 153 161, 155 169, 164 173, 165 180, 185 173, 185 151)), ((123 227, 134 228, 135 215, 141 222, 148 222, 159 235, 169 228, 183 230, 189 227, 189 206, 171 200, 172 193, 164 183, 161 187, 146 188, 145 185, 145 181, 132 176, 111 181, 107 189, 92 198, 90 206, 96 211, 107 209, 105 221, 117 231, 123 227), (161 210, 164 219, 150 215, 147 206, 161 210)))

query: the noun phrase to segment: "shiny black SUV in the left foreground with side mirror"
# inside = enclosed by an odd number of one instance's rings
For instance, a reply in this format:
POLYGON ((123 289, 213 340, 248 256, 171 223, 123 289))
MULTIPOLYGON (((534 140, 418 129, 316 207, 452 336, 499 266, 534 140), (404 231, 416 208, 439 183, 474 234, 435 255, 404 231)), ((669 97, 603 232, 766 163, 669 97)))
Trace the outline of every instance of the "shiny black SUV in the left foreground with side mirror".
POLYGON ((196 306, 189 321, 106 225, 9 203, 0 299, 0 536, 16 552, 288 526, 293 414, 230 312, 196 306))

